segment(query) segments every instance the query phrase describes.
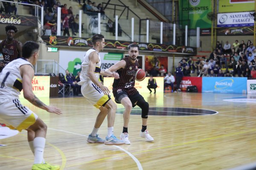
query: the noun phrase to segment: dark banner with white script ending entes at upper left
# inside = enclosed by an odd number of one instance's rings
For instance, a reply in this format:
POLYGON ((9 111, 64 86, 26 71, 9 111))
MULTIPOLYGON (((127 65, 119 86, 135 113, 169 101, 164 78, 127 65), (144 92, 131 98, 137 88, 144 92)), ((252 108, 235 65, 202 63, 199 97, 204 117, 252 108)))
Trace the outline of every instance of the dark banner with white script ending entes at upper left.
POLYGON ((28 17, 28 16, 12 15, 12 14, 0 14, 0 24, 38 27, 38 19, 37 17, 28 17))

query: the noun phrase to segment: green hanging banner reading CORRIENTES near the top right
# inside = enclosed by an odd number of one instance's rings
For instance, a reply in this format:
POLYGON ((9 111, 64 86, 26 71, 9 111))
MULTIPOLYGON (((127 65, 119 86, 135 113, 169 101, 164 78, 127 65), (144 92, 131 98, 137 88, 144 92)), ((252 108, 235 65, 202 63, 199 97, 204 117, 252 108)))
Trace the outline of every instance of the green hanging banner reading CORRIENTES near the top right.
POLYGON ((179 0, 179 17, 183 28, 211 28, 211 0, 179 0))

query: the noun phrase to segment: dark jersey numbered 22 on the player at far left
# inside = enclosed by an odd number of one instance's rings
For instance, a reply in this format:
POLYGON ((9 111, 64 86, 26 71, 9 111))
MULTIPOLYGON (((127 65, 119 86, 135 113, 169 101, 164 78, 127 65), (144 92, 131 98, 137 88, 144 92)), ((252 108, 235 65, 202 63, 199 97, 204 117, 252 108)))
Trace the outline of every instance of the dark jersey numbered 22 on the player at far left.
POLYGON ((12 60, 15 60, 17 58, 20 58, 20 54, 17 50, 17 40, 13 40, 11 44, 7 44, 6 40, 3 40, 2 42, 2 51, 3 54, 3 63, 6 65, 12 60))

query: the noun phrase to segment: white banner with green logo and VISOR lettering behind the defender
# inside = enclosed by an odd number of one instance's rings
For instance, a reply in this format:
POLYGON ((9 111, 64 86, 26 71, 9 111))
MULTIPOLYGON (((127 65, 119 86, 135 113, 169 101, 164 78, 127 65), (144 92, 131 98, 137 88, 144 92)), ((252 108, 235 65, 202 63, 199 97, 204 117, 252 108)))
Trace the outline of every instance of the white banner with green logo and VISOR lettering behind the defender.
MULTIPOLYGON (((85 53, 86 51, 60 50, 59 65, 65 70, 68 69, 70 73, 73 73, 76 76, 77 72, 81 71, 81 63, 85 53)), ((104 71, 122 59, 123 54, 100 52, 99 57, 101 61, 101 69, 104 71)), ((62 71, 63 74, 65 74, 65 70, 62 71)))

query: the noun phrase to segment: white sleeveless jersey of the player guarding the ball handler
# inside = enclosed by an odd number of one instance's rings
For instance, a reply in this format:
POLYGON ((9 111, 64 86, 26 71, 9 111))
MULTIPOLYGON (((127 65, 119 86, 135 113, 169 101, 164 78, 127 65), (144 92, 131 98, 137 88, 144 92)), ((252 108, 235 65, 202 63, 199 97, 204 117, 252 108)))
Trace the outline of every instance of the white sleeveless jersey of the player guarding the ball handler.
MULTIPOLYGON (((91 82, 90 78, 88 77, 88 66, 89 66, 89 55, 93 51, 96 51, 96 50, 95 49, 90 49, 84 55, 83 62, 82 62, 82 65, 81 65, 81 68, 82 68, 81 74, 80 74, 81 81, 78 82, 79 85, 82 85, 84 82, 86 82, 86 83, 91 82)), ((99 57, 99 54, 98 54, 98 57, 99 57)), ((99 79, 99 73, 101 71, 100 65, 101 65, 101 62, 100 62, 100 58, 99 58, 99 62, 96 63, 96 68, 95 68, 95 71, 94 71, 94 74, 95 74, 97 79, 99 79)))

